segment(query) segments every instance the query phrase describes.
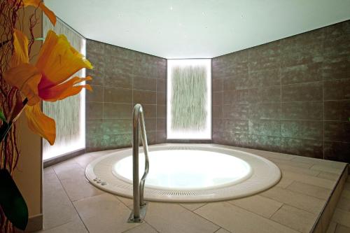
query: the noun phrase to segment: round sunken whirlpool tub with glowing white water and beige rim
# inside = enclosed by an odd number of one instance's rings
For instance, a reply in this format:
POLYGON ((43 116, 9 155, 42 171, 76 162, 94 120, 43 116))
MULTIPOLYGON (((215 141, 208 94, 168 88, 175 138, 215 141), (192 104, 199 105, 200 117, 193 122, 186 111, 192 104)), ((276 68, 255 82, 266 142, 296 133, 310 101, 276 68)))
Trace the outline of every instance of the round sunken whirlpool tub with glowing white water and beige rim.
MULTIPOLYGON (((258 155, 219 146, 150 146, 144 197, 161 202, 210 202, 253 195, 275 185, 281 172, 258 155)), ((140 150, 139 175, 144 174, 140 150)), ((92 161, 85 175, 102 190, 132 197, 132 150, 92 161)))

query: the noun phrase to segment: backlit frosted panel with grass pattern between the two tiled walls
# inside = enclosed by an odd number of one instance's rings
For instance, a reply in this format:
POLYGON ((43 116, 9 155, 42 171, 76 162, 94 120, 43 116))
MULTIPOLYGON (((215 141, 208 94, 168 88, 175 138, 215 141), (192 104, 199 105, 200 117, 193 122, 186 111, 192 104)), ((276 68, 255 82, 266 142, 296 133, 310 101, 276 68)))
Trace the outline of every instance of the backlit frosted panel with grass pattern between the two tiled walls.
POLYGON ((211 139, 211 59, 167 60, 167 139, 211 139))

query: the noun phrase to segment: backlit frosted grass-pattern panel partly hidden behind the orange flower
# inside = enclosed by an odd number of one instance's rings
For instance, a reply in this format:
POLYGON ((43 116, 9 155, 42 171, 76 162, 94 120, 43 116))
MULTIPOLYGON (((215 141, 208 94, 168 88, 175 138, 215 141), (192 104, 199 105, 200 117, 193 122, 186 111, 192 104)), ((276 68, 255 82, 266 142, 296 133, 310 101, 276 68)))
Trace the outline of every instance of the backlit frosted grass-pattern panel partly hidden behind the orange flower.
MULTIPOLYGON (((85 38, 58 19, 53 27, 48 17, 44 15, 43 35, 46 36, 50 29, 56 34, 64 34, 73 48, 85 56, 85 38)), ((85 69, 78 71, 73 76, 85 77, 85 69)), ((85 148, 85 89, 80 94, 61 101, 44 101, 43 113, 55 119, 56 122, 55 144, 50 146, 48 141, 43 139, 44 161, 85 148)))

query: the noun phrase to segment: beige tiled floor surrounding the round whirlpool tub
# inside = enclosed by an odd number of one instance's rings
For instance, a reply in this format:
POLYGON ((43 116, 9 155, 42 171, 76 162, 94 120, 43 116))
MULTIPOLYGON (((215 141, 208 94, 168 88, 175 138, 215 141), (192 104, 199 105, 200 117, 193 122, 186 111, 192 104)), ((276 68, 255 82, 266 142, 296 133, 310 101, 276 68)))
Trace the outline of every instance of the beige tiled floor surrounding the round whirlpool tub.
MULTIPOLYGON (((278 165, 281 181, 258 195, 227 202, 151 202, 142 224, 127 223, 131 199, 102 192, 85 180, 86 165, 107 152, 87 153, 48 167, 41 232, 309 232, 345 164, 244 150, 278 165)), ((349 179, 328 232, 350 232, 349 179)))

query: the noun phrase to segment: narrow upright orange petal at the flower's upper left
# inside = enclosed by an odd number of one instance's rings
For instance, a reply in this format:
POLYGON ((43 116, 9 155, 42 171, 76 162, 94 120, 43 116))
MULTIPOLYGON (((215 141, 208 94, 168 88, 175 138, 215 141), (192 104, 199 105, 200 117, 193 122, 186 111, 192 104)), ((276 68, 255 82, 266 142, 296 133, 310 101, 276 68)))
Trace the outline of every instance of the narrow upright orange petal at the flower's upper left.
POLYGON ((22 63, 28 63, 28 38, 22 31, 18 29, 14 29, 13 32, 13 55, 10 59, 9 66, 13 68, 22 63))

